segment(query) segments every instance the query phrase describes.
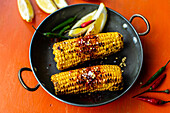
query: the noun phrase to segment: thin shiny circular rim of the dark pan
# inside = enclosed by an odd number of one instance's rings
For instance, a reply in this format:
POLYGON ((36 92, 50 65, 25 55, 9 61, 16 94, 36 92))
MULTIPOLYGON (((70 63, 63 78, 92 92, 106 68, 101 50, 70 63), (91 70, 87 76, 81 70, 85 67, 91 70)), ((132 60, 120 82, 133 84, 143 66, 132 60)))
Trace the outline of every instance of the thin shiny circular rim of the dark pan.
MULTIPOLYGON (((78 6, 78 5, 98 6, 97 4, 84 3, 84 4, 73 4, 73 5, 69 5, 69 6, 67 6, 67 7, 58 9, 58 10, 55 11, 54 13, 50 14, 49 16, 47 16, 47 17, 39 24, 39 26, 37 27, 37 30, 41 27, 41 25, 42 25, 48 18, 50 18, 52 15, 55 15, 55 14, 56 14, 57 12, 59 12, 60 10, 64 10, 65 8, 74 7, 74 6, 78 6)), ((137 36, 137 38, 138 38, 138 40, 139 40, 139 45, 140 45, 140 49, 141 49, 141 57, 142 57, 142 59, 140 59, 140 60, 141 60, 141 62, 140 62, 140 67, 139 67, 139 71, 137 72, 136 78, 135 78, 134 81, 131 83, 131 85, 130 85, 124 92, 122 92, 119 96, 117 96, 117 97, 115 97, 115 98, 113 98, 113 99, 111 99, 111 100, 102 102, 102 103, 98 103, 98 104, 95 104, 95 103, 94 103, 94 104, 77 104, 77 103, 72 103, 72 102, 68 102, 68 101, 62 100, 62 99, 56 97, 56 95, 53 95, 52 93, 50 93, 50 92, 48 91, 48 89, 46 89, 46 88, 43 86, 43 84, 39 81, 39 79, 37 78, 37 76, 36 76, 36 74, 35 74, 35 70, 34 70, 34 68, 33 68, 33 66, 32 66, 32 62, 31 62, 31 61, 32 61, 32 60, 31 60, 31 47, 32 47, 32 42, 33 42, 33 40, 34 40, 35 34, 37 33, 37 32, 35 31, 34 34, 33 34, 33 36, 32 36, 31 43, 30 43, 30 49, 29 49, 29 60, 30 60, 31 69, 32 69, 32 72, 33 72, 36 80, 37 80, 38 83, 41 85, 41 87, 42 87, 48 94, 50 94, 52 97, 54 97, 55 99, 57 99, 57 100, 59 100, 59 101, 61 101, 61 102, 64 102, 64 103, 66 103, 66 104, 74 105, 74 106, 81 106, 81 107, 101 106, 101 105, 108 104, 108 103, 110 103, 110 102, 112 102, 112 101, 115 101, 115 100, 117 100, 118 98, 120 98, 121 96, 123 96, 123 95, 133 86, 133 84, 136 82, 136 80, 137 80, 137 78, 138 78, 138 76, 139 76, 139 74, 140 74, 140 71, 141 71, 141 68, 142 68, 142 64, 143 64, 143 48, 142 48, 142 44, 141 44, 139 35, 138 35, 137 31, 135 30, 135 28, 133 27, 133 25, 132 25, 124 16, 122 16, 120 13, 118 13, 118 12, 116 12, 116 11, 110 9, 110 8, 107 8, 107 9, 108 9, 109 11, 111 11, 111 12, 116 13, 116 14, 117 14, 118 16, 120 16, 121 18, 123 18, 123 19, 130 25, 130 27, 133 29, 133 31, 135 32, 135 34, 136 34, 136 36, 137 36)))

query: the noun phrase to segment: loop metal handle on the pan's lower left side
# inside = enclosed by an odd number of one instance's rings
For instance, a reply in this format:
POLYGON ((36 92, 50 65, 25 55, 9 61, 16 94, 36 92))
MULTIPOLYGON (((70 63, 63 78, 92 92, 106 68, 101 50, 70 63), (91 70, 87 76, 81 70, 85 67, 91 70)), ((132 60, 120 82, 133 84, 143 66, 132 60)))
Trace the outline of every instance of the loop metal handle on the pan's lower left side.
POLYGON ((23 81, 23 79, 22 79, 22 76, 21 76, 21 73, 22 73, 23 71, 32 71, 32 70, 31 70, 30 68, 27 68, 27 67, 21 68, 21 69, 19 70, 19 72, 18 72, 18 79, 19 79, 21 85, 22 85, 26 90, 28 90, 28 91, 35 91, 35 90, 37 90, 37 89, 39 88, 40 84, 37 84, 34 88, 30 88, 30 87, 28 87, 28 86, 24 83, 24 81, 23 81))

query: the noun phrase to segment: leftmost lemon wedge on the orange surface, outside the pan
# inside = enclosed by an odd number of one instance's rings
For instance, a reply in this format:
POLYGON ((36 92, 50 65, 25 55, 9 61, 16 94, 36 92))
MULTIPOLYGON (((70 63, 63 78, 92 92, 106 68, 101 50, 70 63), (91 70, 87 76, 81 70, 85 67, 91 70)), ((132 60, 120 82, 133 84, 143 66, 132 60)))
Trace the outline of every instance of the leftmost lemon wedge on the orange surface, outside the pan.
POLYGON ((31 22, 34 18, 34 10, 29 0, 17 0, 18 10, 23 18, 27 22, 31 22))

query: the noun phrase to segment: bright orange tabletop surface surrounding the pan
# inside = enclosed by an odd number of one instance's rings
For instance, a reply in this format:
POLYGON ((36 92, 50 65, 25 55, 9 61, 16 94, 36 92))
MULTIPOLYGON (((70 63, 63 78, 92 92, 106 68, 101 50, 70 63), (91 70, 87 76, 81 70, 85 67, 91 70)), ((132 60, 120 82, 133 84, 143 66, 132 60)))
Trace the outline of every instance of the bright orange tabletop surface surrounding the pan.
MULTIPOLYGON (((30 67, 29 46, 34 29, 48 14, 39 9, 35 0, 30 0, 35 18, 32 23, 22 20, 17 0, 1 0, 0 3, 0 112, 1 113, 168 113, 170 103, 155 106, 131 97, 147 88, 140 89, 160 67, 170 59, 170 0, 67 0, 68 4, 103 2, 107 7, 129 19, 133 14, 144 15, 150 22, 148 35, 141 36, 144 62, 138 80, 133 87, 114 102, 97 107, 77 107, 51 97, 41 87, 34 92, 25 90, 19 80, 18 71, 30 67)), ((138 32, 146 29, 144 22, 136 18, 132 24, 138 32)), ((167 77, 157 90, 170 88, 170 64, 167 77)), ((23 79, 30 87, 37 81, 32 72, 23 72, 23 79)), ((168 94, 146 93, 162 100, 170 100, 168 94)))

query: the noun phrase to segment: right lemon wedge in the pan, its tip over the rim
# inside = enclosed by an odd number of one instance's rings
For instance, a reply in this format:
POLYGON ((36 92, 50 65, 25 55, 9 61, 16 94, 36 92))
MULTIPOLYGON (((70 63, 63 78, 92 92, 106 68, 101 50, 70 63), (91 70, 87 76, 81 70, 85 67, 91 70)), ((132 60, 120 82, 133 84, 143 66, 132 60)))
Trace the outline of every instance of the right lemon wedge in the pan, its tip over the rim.
POLYGON ((100 3, 100 6, 92 20, 96 21, 91 24, 85 35, 97 34, 103 30, 107 20, 107 10, 103 3, 100 3))

